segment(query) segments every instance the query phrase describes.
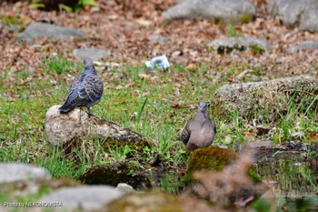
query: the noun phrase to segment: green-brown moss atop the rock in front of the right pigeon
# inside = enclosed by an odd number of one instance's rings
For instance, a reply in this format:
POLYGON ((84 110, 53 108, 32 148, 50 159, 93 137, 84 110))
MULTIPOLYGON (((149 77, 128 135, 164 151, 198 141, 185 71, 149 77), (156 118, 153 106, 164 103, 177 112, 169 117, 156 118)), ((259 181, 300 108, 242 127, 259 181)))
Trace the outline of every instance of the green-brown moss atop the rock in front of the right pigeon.
POLYGON ((210 146, 196 149, 189 158, 185 182, 193 181, 195 171, 221 171, 238 156, 233 149, 210 146))

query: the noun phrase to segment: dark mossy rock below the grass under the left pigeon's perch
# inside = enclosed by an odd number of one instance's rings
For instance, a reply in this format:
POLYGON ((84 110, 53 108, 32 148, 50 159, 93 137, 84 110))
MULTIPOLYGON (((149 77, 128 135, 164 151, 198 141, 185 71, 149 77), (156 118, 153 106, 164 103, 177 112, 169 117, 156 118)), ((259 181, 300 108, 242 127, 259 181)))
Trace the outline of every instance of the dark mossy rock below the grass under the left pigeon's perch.
POLYGON ((151 183, 139 167, 131 163, 107 164, 90 167, 79 180, 88 185, 110 185, 117 187, 119 183, 126 183, 135 189, 150 188, 151 183))

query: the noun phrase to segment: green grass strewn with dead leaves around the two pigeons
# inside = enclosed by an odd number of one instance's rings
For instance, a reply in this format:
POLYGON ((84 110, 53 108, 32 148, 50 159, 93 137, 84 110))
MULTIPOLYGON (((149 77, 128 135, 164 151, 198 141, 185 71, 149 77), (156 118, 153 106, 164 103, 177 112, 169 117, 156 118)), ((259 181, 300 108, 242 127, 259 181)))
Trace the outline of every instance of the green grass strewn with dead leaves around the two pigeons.
MULTIPOLYGON (((64 103, 68 87, 82 67, 81 63, 51 56, 40 67, 44 70, 43 75, 28 67, 0 73, 0 162, 30 163, 46 167, 53 177, 76 179, 87 167, 121 161, 134 152, 131 146, 103 148, 105 141, 89 139, 81 141, 83 143, 65 156, 61 147, 48 144, 44 131, 45 113, 50 106, 64 103)), ((164 163, 178 167, 186 163, 188 153, 177 137, 185 123, 194 116, 197 103, 205 100, 212 105, 215 90, 226 82, 226 70, 244 68, 243 65, 215 67, 225 76, 221 77, 222 82, 214 83, 209 73, 213 67, 213 64, 199 64, 197 70, 188 71, 183 66, 172 66, 168 70, 154 70, 149 78, 141 78, 140 74, 145 73, 144 66, 120 66, 107 71, 104 97, 94 106, 93 113, 129 127, 150 141, 151 146, 144 147, 143 152, 135 156, 138 157, 136 161, 147 164, 157 153, 164 163), (179 89, 179 95, 176 89, 179 89), (180 107, 174 107, 175 104, 180 107)), ((97 69, 100 76, 106 72, 100 73, 101 70, 97 69)), ((261 119, 265 126, 273 126, 273 139, 281 143, 289 140, 291 133, 297 130, 317 132, 316 105, 317 97, 310 107, 304 108, 302 104, 290 101, 284 105, 285 113, 278 114, 274 120, 268 117, 268 109, 273 108, 258 108, 250 119, 261 119)), ((210 107, 210 114, 211 110, 210 107)), ((217 125, 214 143, 231 146, 234 142, 248 141, 243 136, 243 131, 249 130, 246 127, 248 122, 237 111, 228 118, 217 113, 213 118, 217 125)), ((310 143, 311 138, 305 134, 303 141, 310 143)))

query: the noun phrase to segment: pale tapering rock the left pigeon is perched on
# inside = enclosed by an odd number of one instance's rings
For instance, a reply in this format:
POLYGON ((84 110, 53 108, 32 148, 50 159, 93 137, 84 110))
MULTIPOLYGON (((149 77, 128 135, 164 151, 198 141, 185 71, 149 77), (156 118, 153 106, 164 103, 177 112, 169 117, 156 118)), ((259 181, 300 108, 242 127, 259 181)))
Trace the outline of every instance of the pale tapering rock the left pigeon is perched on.
POLYGON ((114 122, 88 116, 83 110, 75 108, 67 114, 61 114, 60 106, 52 106, 46 112, 45 133, 49 142, 54 145, 64 145, 87 137, 107 138, 108 140, 144 142, 144 137, 134 131, 118 126, 114 122))

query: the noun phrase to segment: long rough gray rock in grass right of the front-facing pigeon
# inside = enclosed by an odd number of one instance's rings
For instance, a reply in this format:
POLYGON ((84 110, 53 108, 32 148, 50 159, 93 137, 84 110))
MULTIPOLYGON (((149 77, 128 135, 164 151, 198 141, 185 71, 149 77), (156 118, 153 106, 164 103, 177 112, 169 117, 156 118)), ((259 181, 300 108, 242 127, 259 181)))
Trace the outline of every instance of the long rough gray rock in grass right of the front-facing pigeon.
MULTIPOLYGON (((318 77, 292 76, 257 83, 221 86, 214 96, 214 114, 228 116, 238 111, 239 116, 255 115, 255 111, 269 118, 286 109, 293 96, 303 107, 310 106, 318 94, 318 77)), ((312 105, 317 108, 317 105, 312 105)))

